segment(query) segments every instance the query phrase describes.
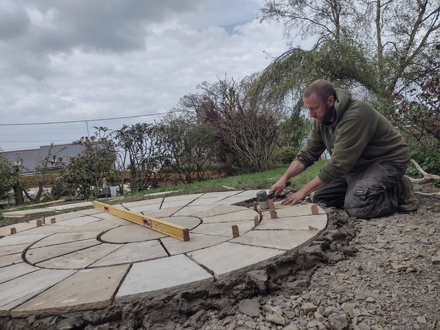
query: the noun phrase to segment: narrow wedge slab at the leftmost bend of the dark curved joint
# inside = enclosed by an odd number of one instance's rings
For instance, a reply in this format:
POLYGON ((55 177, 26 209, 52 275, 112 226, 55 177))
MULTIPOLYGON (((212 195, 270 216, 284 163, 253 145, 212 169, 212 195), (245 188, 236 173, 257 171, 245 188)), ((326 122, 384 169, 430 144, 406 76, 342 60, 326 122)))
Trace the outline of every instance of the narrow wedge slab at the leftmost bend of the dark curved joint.
POLYGON ((53 259, 57 256, 63 256, 64 254, 84 250, 98 244, 102 243, 97 239, 85 239, 83 241, 32 248, 26 252, 25 259, 31 265, 35 265, 36 263, 41 263, 42 261, 53 259))

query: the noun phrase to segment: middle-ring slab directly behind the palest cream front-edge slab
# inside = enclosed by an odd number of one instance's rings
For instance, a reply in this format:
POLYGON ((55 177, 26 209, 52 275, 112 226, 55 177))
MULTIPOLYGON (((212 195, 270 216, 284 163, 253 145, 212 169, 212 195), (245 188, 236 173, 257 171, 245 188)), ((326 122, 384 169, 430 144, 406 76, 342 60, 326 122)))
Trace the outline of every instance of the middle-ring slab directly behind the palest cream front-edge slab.
POLYGON ((90 267, 139 263, 140 261, 166 258, 167 256, 168 254, 159 241, 129 243, 104 256, 104 258, 96 261, 96 263, 92 263, 90 267))

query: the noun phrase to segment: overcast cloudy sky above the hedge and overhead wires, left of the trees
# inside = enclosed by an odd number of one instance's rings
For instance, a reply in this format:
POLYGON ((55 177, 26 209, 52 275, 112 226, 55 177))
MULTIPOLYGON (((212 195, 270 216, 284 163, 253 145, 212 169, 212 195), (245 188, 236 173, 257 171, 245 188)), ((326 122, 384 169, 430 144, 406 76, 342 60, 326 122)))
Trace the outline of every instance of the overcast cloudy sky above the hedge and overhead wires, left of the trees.
POLYGON ((287 49, 263 0, 0 0, 0 148, 152 122, 203 81, 260 72, 287 49), (135 115, 148 117, 104 120, 135 115), (4 124, 83 121, 66 124, 4 124), (84 122, 88 120, 87 124, 84 122), (23 142, 18 142, 23 141, 23 142))

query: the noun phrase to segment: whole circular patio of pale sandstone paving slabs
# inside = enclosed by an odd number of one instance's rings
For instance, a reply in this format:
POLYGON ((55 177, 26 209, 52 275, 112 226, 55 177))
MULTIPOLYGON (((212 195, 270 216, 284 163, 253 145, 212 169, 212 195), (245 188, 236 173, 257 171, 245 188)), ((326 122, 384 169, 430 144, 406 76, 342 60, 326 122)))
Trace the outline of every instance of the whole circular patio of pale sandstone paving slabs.
MULTIPOLYGON (((254 270, 287 250, 313 240, 327 215, 311 204, 281 206, 278 219, 237 203, 259 190, 158 197, 114 205, 184 225, 190 241, 179 241, 97 209, 55 214, 36 228, 0 238, 0 315, 61 314, 99 309, 113 300, 169 294, 254 270), (50 219, 56 219, 51 224, 50 219), (232 225, 240 236, 233 238, 232 225), (22 253, 26 251, 25 261, 22 253), (34 266, 32 265, 34 264, 34 266)), ((18 227, 18 226, 17 226, 18 227)), ((8 234, 10 228, 3 231, 8 234)))

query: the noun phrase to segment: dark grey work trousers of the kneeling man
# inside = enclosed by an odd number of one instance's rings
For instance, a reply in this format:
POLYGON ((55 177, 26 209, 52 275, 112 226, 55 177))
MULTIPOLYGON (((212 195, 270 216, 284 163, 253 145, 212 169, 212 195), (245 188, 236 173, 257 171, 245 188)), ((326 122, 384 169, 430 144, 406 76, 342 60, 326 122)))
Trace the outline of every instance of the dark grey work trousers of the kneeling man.
POLYGON ((314 203, 344 207, 350 217, 382 217, 397 209, 404 187, 405 163, 373 164, 360 172, 349 172, 316 190, 314 203))

